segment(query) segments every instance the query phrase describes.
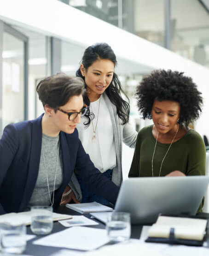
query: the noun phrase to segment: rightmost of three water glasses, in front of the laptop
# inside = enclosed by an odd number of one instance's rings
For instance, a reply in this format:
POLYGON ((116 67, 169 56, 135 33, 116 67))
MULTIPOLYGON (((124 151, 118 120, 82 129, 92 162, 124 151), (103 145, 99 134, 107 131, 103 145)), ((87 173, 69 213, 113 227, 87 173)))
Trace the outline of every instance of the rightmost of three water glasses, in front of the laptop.
POLYGON ((112 212, 107 217, 107 235, 112 242, 122 242, 131 236, 130 214, 112 212))

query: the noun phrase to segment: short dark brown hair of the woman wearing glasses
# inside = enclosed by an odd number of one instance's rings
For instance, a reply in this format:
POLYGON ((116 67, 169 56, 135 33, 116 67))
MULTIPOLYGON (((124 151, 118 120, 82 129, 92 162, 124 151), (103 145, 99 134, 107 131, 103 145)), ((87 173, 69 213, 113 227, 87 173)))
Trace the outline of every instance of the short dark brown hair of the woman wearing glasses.
POLYGON ((64 106, 75 95, 84 93, 84 82, 79 77, 69 77, 59 73, 41 80, 36 91, 43 106, 48 105, 55 111, 64 106))

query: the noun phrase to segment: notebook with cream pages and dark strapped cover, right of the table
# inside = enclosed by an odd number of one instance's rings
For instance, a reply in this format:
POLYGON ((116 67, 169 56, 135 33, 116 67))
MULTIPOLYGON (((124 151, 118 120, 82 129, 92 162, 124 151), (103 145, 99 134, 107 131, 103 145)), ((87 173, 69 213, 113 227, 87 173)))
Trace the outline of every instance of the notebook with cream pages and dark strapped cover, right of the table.
POLYGON ((145 241, 202 246, 207 222, 205 219, 160 215, 145 241))

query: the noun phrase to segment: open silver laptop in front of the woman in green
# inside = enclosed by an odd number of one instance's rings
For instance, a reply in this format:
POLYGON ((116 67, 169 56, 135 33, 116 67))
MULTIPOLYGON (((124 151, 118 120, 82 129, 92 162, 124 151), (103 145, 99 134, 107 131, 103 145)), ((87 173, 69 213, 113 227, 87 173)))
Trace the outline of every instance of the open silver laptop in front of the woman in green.
MULTIPOLYGON (((159 214, 195 215, 207 191, 209 177, 146 177, 122 182, 115 205, 117 212, 129 212, 134 224, 152 224, 159 214)), ((106 222, 108 213, 93 213, 106 222)))

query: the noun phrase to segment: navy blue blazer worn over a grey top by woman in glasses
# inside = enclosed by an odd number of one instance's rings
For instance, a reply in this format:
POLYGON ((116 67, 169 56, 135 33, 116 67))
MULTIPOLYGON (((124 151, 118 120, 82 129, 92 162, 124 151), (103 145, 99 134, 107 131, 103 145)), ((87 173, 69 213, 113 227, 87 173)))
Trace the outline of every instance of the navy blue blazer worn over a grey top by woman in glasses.
MULTIPOLYGON (((41 115, 31 121, 7 125, 0 139, 0 214, 21 212, 28 206, 38 176, 41 157, 41 115)), ((58 207, 71 175, 76 172, 87 186, 113 204, 119 188, 94 167, 78 138, 60 132, 64 179, 55 191, 54 207, 58 207)))

